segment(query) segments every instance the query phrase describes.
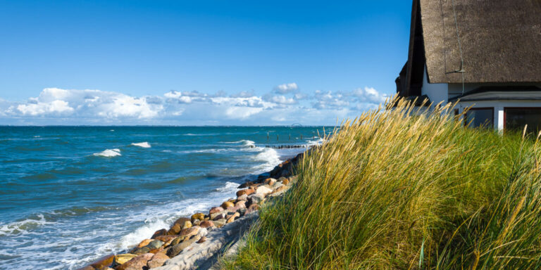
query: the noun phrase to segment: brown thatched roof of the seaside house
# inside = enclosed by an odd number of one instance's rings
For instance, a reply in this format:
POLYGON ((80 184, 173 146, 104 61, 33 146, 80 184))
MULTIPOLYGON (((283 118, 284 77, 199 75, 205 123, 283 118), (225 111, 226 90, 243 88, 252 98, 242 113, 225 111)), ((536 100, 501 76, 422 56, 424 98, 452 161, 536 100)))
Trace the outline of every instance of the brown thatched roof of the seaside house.
MULTIPOLYGON (((420 0, 430 83, 460 83, 453 0, 420 0)), ((454 0, 464 82, 541 82, 541 0, 454 0)))

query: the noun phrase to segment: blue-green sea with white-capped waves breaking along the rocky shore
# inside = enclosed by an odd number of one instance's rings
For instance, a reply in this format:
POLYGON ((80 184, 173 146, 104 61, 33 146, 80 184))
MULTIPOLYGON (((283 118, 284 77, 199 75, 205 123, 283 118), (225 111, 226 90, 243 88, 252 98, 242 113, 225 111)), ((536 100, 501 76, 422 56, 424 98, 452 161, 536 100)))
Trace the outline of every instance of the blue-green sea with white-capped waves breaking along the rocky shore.
POLYGON ((77 269, 125 252, 234 198, 323 129, 0 127, 0 269, 77 269))

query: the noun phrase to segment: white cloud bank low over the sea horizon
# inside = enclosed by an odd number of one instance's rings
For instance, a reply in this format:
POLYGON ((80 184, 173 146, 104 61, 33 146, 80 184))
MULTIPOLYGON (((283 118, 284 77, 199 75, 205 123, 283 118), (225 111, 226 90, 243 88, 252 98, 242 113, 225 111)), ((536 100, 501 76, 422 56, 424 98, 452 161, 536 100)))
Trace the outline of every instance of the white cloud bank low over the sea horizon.
POLYGON ((268 94, 168 91, 130 96, 92 89, 43 89, 25 102, 0 97, 0 124, 13 125, 304 125, 335 124, 376 108, 387 95, 364 87, 353 91, 302 93, 296 83, 268 94))

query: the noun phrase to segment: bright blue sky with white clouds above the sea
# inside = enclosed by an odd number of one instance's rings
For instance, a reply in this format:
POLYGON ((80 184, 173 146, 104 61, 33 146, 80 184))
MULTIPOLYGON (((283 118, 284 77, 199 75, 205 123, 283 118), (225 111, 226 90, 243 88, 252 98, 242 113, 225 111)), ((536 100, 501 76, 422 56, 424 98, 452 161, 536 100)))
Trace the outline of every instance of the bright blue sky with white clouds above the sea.
POLYGON ((335 124, 395 93, 410 15, 404 0, 0 0, 0 124, 335 124))

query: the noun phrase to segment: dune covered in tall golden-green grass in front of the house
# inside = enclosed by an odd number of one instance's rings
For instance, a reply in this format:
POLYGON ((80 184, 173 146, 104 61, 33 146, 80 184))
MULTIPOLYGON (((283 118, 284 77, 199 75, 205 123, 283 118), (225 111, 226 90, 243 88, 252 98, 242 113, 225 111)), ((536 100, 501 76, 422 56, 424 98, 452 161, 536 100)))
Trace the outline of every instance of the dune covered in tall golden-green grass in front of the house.
POLYGON ((539 269, 540 142, 415 110, 344 122, 228 268, 539 269))

